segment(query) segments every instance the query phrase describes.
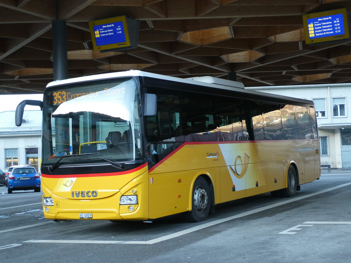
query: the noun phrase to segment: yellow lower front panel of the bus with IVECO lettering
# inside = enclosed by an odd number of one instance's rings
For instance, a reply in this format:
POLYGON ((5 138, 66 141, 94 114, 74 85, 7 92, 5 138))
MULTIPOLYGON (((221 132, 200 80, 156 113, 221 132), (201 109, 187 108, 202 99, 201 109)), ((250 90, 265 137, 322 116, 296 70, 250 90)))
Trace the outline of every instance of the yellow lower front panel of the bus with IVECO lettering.
POLYGON ((44 206, 44 216, 48 219, 80 219, 80 213, 92 213, 93 220, 148 219, 147 166, 134 170, 116 175, 66 175, 64 178, 42 174, 43 195, 54 201, 54 206, 44 206), (90 197, 86 196, 87 191, 90 197), (92 191, 96 191, 96 197, 92 196, 92 191), (133 205, 132 212, 128 210, 129 205, 119 204, 121 195, 135 194, 139 197, 138 204, 133 205))

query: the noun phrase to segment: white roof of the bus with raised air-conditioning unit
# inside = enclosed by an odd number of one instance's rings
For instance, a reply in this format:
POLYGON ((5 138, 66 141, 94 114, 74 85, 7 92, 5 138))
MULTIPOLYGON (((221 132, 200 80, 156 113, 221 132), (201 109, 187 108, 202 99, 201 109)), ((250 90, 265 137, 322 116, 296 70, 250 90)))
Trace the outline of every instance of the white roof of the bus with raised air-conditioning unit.
POLYGON ((161 75, 161 74, 144 72, 144 71, 140 71, 140 70, 128 70, 128 71, 121 71, 121 72, 113 72, 113 73, 104 73, 104 74, 97 74, 97 75, 90 75, 90 76, 83 76, 83 77, 75 77, 72 79, 65 79, 65 80, 56 80, 56 81, 52 81, 52 82, 48 83, 48 85, 46 87, 48 88, 48 87, 60 86, 60 85, 76 83, 76 82, 85 82, 85 81, 91 81, 91 80, 111 79, 111 78, 115 78, 115 77, 129 77, 129 76, 131 76, 131 77, 132 76, 134 76, 134 77, 138 77, 138 76, 150 77, 150 78, 154 78, 154 79, 187 83, 187 84, 192 84, 192 85, 197 85, 197 86, 232 90, 232 91, 246 93, 246 94, 255 94, 255 95, 262 96, 262 97, 285 99, 285 100, 290 100, 290 101, 294 101, 294 102, 313 104, 313 102, 310 100, 304 100, 304 99, 299 99, 299 98, 294 98, 294 97, 287 97, 287 96, 282 96, 282 95, 276 95, 276 94, 270 94, 270 93, 265 93, 265 92, 259 92, 259 91, 255 91, 255 90, 244 89, 244 85, 240 82, 237 82, 237 81, 228 81, 228 80, 224 80, 224 79, 217 79, 214 77, 207 77, 207 76, 182 79, 179 77, 166 76, 166 75, 161 75), (217 80, 214 80, 214 79, 217 79, 217 80), (216 82, 216 83, 211 83, 211 82, 216 82))

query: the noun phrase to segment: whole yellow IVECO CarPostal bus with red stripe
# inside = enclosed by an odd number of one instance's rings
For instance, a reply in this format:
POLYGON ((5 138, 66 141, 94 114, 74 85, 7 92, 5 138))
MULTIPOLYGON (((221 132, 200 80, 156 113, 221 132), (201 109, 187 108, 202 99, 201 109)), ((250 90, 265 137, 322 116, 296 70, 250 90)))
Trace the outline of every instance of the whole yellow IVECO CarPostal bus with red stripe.
MULTIPOLYGON (((212 82, 212 83, 211 83, 212 82)), ((48 84, 42 197, 52 220, 206 220, 216 204, 292 197, 320 176, 312 101, 138 70, 48 84)))

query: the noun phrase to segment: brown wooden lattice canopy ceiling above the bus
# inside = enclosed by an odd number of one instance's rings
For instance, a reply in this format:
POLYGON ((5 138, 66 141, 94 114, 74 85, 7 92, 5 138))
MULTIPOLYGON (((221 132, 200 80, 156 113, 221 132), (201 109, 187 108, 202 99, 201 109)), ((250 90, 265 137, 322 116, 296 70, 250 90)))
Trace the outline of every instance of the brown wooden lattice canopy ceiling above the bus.
POLYGON ((345 83, 351 41, 307 46, 302 15, 351 10, 340 0, 0 0, 0 94, 42 93, 53 80, 52 20, 67 21, 68 76, 140 69, 229 72, 246 87, 345 83), (140 20, 138 48, 93 51, 88 21, 140 20))

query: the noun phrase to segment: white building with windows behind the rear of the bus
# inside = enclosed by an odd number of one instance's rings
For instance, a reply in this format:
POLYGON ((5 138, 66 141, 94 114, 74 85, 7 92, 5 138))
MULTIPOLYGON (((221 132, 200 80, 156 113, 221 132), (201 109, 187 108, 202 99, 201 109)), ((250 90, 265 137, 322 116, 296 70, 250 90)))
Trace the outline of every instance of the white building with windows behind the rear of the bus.
POLYGON ((313 100, 320 139, 321 165, 351 168, 351 83, 252 87, 260 92, 313 100))

